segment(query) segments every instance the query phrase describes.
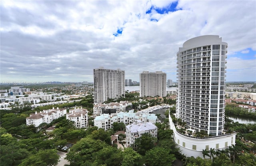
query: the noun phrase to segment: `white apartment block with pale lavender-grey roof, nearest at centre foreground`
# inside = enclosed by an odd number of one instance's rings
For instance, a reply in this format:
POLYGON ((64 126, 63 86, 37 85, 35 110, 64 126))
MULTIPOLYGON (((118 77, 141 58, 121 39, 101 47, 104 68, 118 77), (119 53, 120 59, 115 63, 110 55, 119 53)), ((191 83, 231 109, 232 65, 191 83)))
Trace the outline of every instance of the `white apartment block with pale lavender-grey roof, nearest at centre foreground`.
POLYGON ((130 146, 135 143, 136 138, 140 138, 142 134, 149 133, 153 137, 157 138, 157 127, 151 122, 137 121, 134 124, 126 126, 126 146, 130 146))

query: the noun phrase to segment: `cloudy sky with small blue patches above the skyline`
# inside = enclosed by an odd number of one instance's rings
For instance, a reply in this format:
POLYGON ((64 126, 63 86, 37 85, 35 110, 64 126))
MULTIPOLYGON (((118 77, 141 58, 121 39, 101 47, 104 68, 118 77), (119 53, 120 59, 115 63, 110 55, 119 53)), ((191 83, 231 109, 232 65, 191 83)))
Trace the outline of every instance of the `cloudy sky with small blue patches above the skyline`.
POLYGON ((93 82, 93 69, 163 71, 196 36, 228 43, 226 81, 256 82, 255 0, 0 1, 0 82, 93 82))

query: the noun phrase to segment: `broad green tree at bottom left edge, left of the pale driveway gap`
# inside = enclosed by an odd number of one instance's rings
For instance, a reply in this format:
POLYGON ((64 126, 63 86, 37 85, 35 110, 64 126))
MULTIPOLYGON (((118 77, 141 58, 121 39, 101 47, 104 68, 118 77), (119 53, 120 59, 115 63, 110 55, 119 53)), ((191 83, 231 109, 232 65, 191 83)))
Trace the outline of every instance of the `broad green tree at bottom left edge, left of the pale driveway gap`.
POLYGON ((26 158, 20 166, 56 166, 59 158, 57 150, 40 150, 37 154, 26 158))

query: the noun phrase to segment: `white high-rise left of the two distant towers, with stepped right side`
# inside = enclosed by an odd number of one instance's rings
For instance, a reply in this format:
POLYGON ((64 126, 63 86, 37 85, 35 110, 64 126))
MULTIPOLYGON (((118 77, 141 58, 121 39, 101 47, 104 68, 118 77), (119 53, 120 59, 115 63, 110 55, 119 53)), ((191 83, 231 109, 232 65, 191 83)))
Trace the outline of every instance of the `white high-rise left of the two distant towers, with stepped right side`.
POLYGON ((97 68, 94 75, 94 103, 104 103, 125 95, 124 70, 97 68))

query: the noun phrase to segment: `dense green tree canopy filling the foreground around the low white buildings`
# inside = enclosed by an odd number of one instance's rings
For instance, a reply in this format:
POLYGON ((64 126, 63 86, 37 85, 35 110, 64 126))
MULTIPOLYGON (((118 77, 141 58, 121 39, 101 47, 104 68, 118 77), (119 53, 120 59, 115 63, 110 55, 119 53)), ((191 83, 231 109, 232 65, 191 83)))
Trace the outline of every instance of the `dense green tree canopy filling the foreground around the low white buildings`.
MULTIPOLYGON (((132 100, 135 108, 158 104, 158 100, 150 99, 137 102, 138 93, 127 93, 123 98, 132 100)), ((165 102, 168 100, 164 99, 165 102)), ((92 109, 92 96, 87 96, 80 102, 56 105, 59 108, 84 106, 92 109)), ((169 102, 175 102, 169 101, 169 102)), ((169 129, 169 110, 162 123, 156 123, 158 138, 150 134, 143 134, 135 140, 134 145, 124 150, 111 145, 110 135, 119 130, 125 130, 124 123, 114 123, 112 129, 104 131, 95 126, 77 129, 73 122, 65 117, 54 120, 51 124, 41 124, 38 128, 26 126, 26 117, 34 111, 50 109, 52 106, 39 107, 35 110, 16 108, 16 110, 1 111, 0 121, 0 164, 3 166, 54 166, 58 163, 57 146, 65 146, 67 142, 74 143, 67 153, 66 159, 70 166, 170 166, 175 159, 182 159, 185 166, 254 166, 256 158, 252 151, 256 151, 256 124, 239 124, 226 119, 225 129, 236 131, 236 146, 230 146, 225 151, 204 150, 203 155, 210 159, 186 157, 180 153, 173 141, 172 130, 169 129), (45 134, 45 129, 55 125, 53 132, 45 134), (38 131, 39 130, 39 131, 38 131), (51 139, 48 139, 48 138, 51 139), (50 160, 49 160, 50 159, 50 160)), ((232 107, 233 108, 233 107, 232 107)), ((230 110, 229 110, 230 111, 230 110)), ((170 113, 175 107, 170 108, 170 113)), ((158 115, 159 118, 160 115, 158 115)), ((184 126, 178 119, 176 123, 184 126)), ((92 122, 92 119, 90 119, 92 122)), ((198 133, 200 134, 200 133, 198 133)), ((125 135, 120 135, 124 139, 125 135)))

